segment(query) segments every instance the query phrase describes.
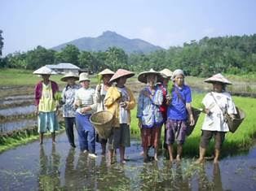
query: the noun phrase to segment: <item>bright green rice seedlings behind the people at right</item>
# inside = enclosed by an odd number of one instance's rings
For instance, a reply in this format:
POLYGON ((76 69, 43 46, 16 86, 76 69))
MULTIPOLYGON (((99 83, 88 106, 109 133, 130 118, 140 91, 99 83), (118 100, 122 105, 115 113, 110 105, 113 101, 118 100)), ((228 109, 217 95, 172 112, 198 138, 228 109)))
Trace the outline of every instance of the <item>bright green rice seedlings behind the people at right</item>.
MULTIPOLYGON (((201 106, 201 100, 204 94, 194 94, 192 105, 195 107, 201 106)), ((255 98, 241 98, 233 97, 236 106, 245 111, 245 120, 235 133, 227 132, 226 139, 223 144, 223 155, 237 154, 242 150, 249 150, 249 147, 253 145, 254 138, 256 137, 256 122, 254 112, 256 108, 255 98)), ((131 112, 132 122, 130 125, 130 132, 135 135, 139 135, 138 119, 136 119, 136 109, 131 112)), ((204 114, 201 114, 197 121, 196 128, 192 134, 187 137, 185 144, 183 145, 183 154, 185 156, 195 157, 198 155, 198 147, 201 138, 201 125, 203 123, 204 114)), ((163 130, 163 129, 162 129, 163 130)), ((163 136, 163 133, 161 133, 163 136)), ((163 137, 161 138, 163 140, 163 137)), ((212 154, 214 150, 214 141, 210 142, 207 154, 212 154)))

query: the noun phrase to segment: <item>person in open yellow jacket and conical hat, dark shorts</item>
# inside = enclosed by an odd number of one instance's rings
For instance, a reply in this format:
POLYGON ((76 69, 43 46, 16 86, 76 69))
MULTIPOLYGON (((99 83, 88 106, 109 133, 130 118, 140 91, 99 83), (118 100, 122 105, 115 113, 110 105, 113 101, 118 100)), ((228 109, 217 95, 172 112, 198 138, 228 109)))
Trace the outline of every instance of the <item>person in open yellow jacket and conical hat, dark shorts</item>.
POLYGON ((114 115, 113 134, 108 138, 110 163, 114 163, 113 154, 116 149, 120 151, 121 163, 126 163, 126 147, 130 146, 130 110, 135 107, 135 97, 125 84, 126 79, 134 75, 133 72, 118 69, 109 80, 110 83, 117 82, 117 85, 108 89, 104 99, 106 110, 114 115))

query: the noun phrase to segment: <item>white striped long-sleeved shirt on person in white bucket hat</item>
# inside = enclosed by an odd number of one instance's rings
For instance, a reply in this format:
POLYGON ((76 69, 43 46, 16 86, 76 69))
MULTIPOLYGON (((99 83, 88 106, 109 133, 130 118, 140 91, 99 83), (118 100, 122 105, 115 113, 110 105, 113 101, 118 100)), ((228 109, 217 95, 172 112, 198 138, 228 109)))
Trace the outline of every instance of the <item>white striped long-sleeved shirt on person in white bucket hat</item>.
POLYGON ((82 115, 92 114, 97 110, 97 103, 95 101, 95 89, 78 89, 75 96, 75 102, 79 101, 80 106, 77 108, 77 112, 82 115), (90 106, 91 111, 87 111, 86 113, 81 112, 81 108, 85 106, 90 106))

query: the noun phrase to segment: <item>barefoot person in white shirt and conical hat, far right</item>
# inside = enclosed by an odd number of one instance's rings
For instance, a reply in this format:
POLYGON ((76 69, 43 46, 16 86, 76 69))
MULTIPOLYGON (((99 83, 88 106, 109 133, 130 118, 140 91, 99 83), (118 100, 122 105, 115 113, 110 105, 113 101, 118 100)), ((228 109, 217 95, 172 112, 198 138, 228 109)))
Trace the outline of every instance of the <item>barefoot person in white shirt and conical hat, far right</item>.
POLYGON ((212 137, 215 141, 214 163, 218 163, 225 133, 229 131, 223 113, 227 111, 229 115, 235 118, 236 106, 232 102, 231 95, 225 90, 226 85, 232 85, 232 83, 223 75, 218 73, 206 79, 205 82, 213 84, 213 91, 207 93, 202 101, 206 115, 201 128, 200 157, 196 163, 204 162, 205 151, 212 137))

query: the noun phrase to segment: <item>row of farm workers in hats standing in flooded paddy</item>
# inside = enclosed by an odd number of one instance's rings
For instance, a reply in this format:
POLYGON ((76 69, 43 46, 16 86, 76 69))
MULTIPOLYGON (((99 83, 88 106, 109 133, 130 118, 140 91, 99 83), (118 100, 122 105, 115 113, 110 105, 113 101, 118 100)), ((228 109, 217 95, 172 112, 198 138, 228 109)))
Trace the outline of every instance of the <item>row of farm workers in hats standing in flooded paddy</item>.
MULTIPOLYGON (((97 157, 95 142, 98 141, 103 155, 108 149, 110 163, 114 163, 117 149, 120 153, 120 162, 126 163, 126 147, 130 146, 130 111, 136 106, 135 96, 126 87, 126 80, 135 76, 134 72, 124 69, 113 72, 105 69, 99 72, 102 83, 95 89, 90 88, 90 78, 86 72, 80 73, 79 76, 68 72, 60 79, 67 83, 62 91, 61 102, 55 97, 59 91, 58 85, 49 80, 51 69, 41 67, 33 73, 42 76, 42 81, 35 87, 40 144, 43 143, 43 133, 47 128, 55 143, 55 131, 59 128, 57 115, 62 103, 66 133, 72 147, 76 147, 73 135, 75 126, 80 150, 88 153, 90 158, 97 157), (76 80, 79 80, 80 85, 75 83, 76 80), (97 111, 110 111, 113 114, 113 131, 108 139, 100 137, 90 123, 90 115, 97 111)), ((154 160, 158 160, 157 151, 161 146, 162 126, 165 127, 164 147, 169 152, 170 162, 174 161, 174 141, 177 144, 175 159, 181 160, 188 126, 195 125, 192 92, 190 87, 185 85, 184 79, 185 74, 180 69, 174 72, 168 69, 161 72, 151 69, 139 73, 138 80, 145 84, 139 92, 136 115, 139 119, 144 163, 149 161, 148 150, 151 147, 154 149, 154 160)), ((223 111, 234 116, 236 106, 231 95, 225 90, 226 85, 230 85, 231 82, 224 76, 217 74, 205 82, 213 84, 213 89, 202 101, 205 121, 201 128, 200 158, 196 163, 204 162, 205 151, 212 137, 215 140, 214 163, 218 163, 225 133, 228 132, 223 111)))

